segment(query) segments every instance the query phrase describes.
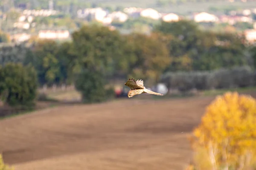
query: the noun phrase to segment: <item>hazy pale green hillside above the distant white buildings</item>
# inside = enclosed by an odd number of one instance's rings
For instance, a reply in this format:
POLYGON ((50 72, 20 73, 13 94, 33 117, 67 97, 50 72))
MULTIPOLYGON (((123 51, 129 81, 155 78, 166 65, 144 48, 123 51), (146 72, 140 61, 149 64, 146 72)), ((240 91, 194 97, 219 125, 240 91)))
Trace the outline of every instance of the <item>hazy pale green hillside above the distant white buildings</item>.
MULTIPOLYGON (((9 0, 6 0, 8 2, 9 0)), ((21 3, 28 3, 30 0, 15 0, 14 6, 21 3)), ((174 12, 180 15, 188 14, 189 12, 212 12, 217 11, 223 13, 225 10, 239 10, 245 8, 256 8, 255 0, 247 0, 246 3, 241 0, 234 1, 233 3, 228 0, 53 0, 55 9, 57 10, 77 10, 78 8, 86 7, 102 7, 121 9, 125 7, 141 7, 141 8, 154 8, 159 12, 174 12), (211 9, 215 10, 212 11, 211 9), (216 11, 217 9, 217 11, 216 11)), ((12 4, 12 3, 7 3, 12 4)), ((35 8, 48 8, 49 0, 34 0, 31 1, 30 6, 35 8)))

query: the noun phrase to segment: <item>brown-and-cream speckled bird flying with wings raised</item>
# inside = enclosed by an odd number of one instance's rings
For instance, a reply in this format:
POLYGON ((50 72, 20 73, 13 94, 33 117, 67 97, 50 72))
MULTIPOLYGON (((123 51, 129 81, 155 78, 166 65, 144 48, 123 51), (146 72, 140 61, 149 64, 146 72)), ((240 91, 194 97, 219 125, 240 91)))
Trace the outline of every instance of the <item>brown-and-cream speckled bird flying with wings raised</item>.
POLYGON ((129 98, 132 96, 135 96, 137 94, 143 94, 143 93, 154 94, 157 96, 163 96, 163 94, 156 93, 154 91, 150 91, 150 90, 146 89, 143 85, 143 80, 135 81, 135 79, 128 79, 127 82, 125 83, 125 85, 128 86, 129 88, 131 88, 131 90, 128 91, 129 98))

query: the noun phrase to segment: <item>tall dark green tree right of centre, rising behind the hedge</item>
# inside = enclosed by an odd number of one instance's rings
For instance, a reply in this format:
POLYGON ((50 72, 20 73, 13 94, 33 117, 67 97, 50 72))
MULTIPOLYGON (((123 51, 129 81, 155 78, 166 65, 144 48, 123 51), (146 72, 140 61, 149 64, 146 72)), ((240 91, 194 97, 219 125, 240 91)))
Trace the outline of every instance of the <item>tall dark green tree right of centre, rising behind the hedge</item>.
POLYGON ((171 23, 162 21, 160 25, 154 28, 153 32, 162 32, 173 36, 167 42, 169 54, 173 58, 168 71, 193 69, 193 62, 195 61, 192 54, 198 54, 198 46, 202 45, 198 24, 188 20, 171 23))

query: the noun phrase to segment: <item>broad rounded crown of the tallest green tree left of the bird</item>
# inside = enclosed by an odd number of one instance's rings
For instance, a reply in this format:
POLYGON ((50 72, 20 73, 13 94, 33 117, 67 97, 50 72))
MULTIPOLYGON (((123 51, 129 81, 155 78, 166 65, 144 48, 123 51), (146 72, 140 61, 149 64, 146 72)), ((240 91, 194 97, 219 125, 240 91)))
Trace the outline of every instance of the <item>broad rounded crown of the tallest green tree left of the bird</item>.
POLYGON ((108 27, 83 26, 72 34, 73 52, 78 64, 91 71, 103 71, 106 75, 115 72, 115 65, 124 55, 125 38, 108 27))

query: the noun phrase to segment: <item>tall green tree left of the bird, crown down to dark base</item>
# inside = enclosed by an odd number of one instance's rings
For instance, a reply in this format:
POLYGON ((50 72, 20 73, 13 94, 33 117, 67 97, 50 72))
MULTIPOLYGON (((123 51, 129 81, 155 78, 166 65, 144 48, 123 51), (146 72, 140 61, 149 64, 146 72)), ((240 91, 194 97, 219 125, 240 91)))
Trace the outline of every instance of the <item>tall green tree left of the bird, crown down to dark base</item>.
POLYGON ((108 96, 105 95, 106 87, 102 87, 102 82, 117 72, 115 68, 119 60, 125 57, 125 39, 118 31, 98 25, 83 26, 79 31, 75 31, 72 37, 70 54, 74 56, 76 73, 81 75, 75 81, 76 87, 83 94, 84 102, 103 101, 108 96), (89 91, 93 91, 95 96, 89 91))

